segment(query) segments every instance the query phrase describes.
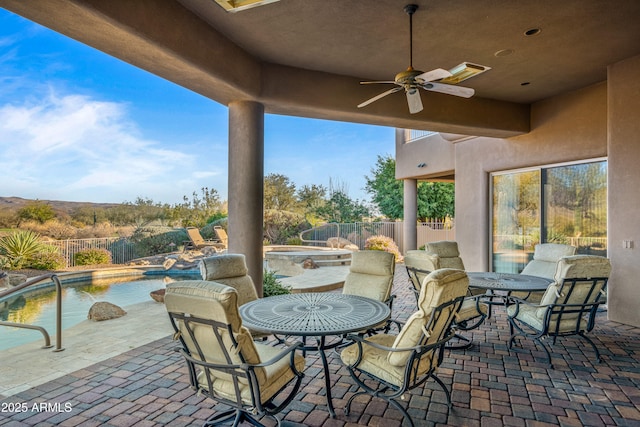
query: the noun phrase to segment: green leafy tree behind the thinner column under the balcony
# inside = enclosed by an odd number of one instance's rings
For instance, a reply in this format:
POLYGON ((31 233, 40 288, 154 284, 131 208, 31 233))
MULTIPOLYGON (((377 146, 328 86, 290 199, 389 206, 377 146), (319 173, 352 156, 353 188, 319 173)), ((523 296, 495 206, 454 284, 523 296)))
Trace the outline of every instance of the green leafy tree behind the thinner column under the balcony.
MULTIPOLYGON (((389 219, 404 216, 404 185, 395 177, 396 161, 390 156, 378 156, 365 190, 371 195, 380 213, 389 219)), ((418 183, 418 219, 443 219, 455 215, 455 187, 447 182, 418 183)))

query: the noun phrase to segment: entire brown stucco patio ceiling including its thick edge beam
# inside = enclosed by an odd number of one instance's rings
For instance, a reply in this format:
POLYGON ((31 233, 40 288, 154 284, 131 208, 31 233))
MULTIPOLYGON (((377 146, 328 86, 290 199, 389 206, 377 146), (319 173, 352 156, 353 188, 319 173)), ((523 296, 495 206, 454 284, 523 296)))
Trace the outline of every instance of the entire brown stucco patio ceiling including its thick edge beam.
POLYGON ((402 93, 357 109, 391 87, 360 80, 392 80, 409 65, 409 2, 280 0, 238 13, 214 0, 0 6, 223 104, 488 136, 527 132, 530 104, 605 81, 608 65, 640 54, 638 0, 415 0, 415 68, 491 70, 461 83, 476 90, 468 100, 423 92, 417 115, 402 93))

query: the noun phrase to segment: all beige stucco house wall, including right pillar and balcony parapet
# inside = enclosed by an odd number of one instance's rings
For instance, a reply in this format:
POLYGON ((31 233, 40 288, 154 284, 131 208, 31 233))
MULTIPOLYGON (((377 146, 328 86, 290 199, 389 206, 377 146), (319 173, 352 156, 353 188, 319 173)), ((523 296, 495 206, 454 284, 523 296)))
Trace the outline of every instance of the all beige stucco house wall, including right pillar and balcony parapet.
MULTIPOLYGON (((532 130, 526 135, 449 143, 455 164, 456 240, 468 270, 489 268, 491 172, 606 157, 613 265, 609 317, 640 326, 639 73, 640 57, 631 58, 611 66, 607 82, 534 104, 532 130), (623 240, 633 240, 634 247, 623 249, 623 240)), ((451 153, 441 144, 437 141, 435 150, 428 141, 412 147, 398 144, 400 174, 411 177, 420 155, 428 156, 433 170, 446 171, 451 167, 451 153), (424 153, 407 147, 420 147, 424 153), (441 161, 437 155, 442 156, 441 161)))

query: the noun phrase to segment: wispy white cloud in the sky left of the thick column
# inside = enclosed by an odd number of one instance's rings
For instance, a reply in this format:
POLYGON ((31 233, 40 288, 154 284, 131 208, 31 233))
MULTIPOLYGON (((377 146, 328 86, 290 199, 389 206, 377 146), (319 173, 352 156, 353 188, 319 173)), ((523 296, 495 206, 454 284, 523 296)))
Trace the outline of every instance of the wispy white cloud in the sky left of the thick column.
POLYGON ((226 181, 220 167, 203 171, 197 155, 166 145, 140 135, 122 103, 50 91, 38 102, 0 106, 0 195, 174 203, 207 186, 200 180, 226 181))

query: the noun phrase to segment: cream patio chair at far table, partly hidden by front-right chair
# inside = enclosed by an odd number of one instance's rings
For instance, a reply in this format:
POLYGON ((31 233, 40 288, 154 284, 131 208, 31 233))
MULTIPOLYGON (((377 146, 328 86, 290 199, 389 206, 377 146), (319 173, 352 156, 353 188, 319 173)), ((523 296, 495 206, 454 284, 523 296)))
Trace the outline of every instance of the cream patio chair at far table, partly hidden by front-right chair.
MULTIPOLYGON (((413 292, 414 295, 416 295, 417 303, 427 275, 432 271, 443 268, 442 258, 438 255, 428 254, 425 251, 408 251, 404 262, 407 268, 407 273, 409 274, 409 280, 413 285, 413 292)), ((461 331, 470 331, 482 325, 489 313, 489 305, 486 302, 482 302, 484 296, 484 292, 476 293, 475 295, 472 294, 471 289, 469 288, 467 296, 454 319, 456 329, 461 331)), ((448 344, 447 348, 452 350, 464 350, 473 345, 471 339, 464 335, 456 333, 455 337, 460 341, 464 341, 465 344, 448 344)))

